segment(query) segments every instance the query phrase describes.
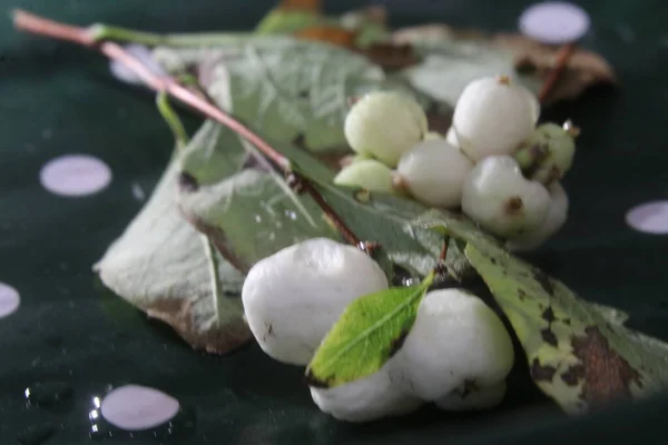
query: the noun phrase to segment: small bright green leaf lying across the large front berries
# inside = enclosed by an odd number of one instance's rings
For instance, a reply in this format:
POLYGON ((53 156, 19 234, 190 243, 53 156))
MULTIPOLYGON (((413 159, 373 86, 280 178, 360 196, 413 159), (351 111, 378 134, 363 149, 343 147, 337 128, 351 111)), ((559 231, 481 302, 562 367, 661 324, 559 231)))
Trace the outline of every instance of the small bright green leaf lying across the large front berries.
POLYGON ((336 387, 376 373, 401 347, 433 274, 418 286, 391 288, 351 303, 306 369, 310 385, 336 387))

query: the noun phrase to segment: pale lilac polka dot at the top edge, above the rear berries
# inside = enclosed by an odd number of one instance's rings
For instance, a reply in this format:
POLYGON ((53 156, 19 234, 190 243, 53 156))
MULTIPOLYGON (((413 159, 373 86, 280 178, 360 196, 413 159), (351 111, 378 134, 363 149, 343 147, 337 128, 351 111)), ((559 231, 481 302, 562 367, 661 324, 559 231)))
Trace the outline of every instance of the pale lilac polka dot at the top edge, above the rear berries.
POLYGON ((587 33, 589 16, 577 4, 562 1, 536 3, 520 16, 520 31, 543 43, 577 41, 587 33))

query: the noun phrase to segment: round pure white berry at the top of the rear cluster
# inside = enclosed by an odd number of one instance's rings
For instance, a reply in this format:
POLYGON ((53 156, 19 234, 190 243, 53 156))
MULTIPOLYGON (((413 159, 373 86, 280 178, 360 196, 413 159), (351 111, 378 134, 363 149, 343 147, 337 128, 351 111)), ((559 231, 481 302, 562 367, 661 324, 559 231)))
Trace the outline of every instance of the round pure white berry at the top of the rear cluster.
POLYGON ((513 152, 536 125, 537 109, 529 95, 527 88, 504 76, 470 82, 452 118, 459 148, 475 161, 513 152))

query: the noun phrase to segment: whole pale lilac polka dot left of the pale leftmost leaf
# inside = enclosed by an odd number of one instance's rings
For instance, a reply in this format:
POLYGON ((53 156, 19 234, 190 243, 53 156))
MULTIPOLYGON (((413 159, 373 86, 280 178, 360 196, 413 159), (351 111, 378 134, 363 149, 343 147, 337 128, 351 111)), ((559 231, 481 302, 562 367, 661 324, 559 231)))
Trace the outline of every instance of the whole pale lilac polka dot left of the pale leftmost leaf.
POLYGON ((68 155, 47 162, 40 174, 42 186, 56 195, 85 196, 100 191, 111 181, 111 170, 88 155, 68 155))

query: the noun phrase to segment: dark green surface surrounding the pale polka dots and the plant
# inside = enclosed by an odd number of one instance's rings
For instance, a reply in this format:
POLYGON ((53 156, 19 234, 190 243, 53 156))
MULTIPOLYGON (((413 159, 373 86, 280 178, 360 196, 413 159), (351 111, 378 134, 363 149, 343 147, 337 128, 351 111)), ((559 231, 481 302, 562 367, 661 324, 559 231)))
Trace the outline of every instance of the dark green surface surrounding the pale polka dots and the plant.
MULTIPOLYGON (((326 3, 336 12, 364 2, 326 3)), ((513 30, 530 2, 385 3, 393 24, 428 19, 513 30)), ((0 9, 166 32, 248 28, 272 4, 2 0, 0 9)), ((583 43, 613 65, 623 88, 589 91, 546 115, 570 117, 583 132, 566 179, 570 219, 532 258, 581 295, 629 310, 633 326, 668 339, 668 236, 636 233, 623 220, 631 206, 668 197, 668 32, 661 33, 668 13, 664 0, 581 4, 593 24, 583 43)), ((0 281, 22 296, 20 310, 0 320, 0 444, 16 443, 19 431, 43 422, 62 428, 50 444, 89 443, 90 397, 124 382, 161 388, 196 411, 195 431, 178 444, 666 443, 668 396, 569 419, 549 404, 519 405, 531 398, 521 394, 485 415, 425 409, 351 426, 317 411, 299 369, 272 362, 255 345, 224 358, 194 353, 169 329, 105 291, 91 273, 141 207, 131 195, 132 181, 149 190, 169 156, 171 135, 153 97, 112 79, 98 55, 18 34, 9 19, 0 24, 0 281), (40 167, 70 152, 104 159, 115 175, 111 186, 82 199, 43 190, 40 167), (23 388, 48 379, 72 385, 73 406, 65 412, 24 407, 23 388)), ((197 119, 188 123, 195 128, 197 119)))

